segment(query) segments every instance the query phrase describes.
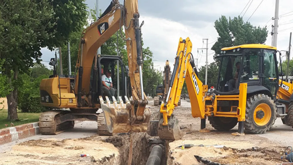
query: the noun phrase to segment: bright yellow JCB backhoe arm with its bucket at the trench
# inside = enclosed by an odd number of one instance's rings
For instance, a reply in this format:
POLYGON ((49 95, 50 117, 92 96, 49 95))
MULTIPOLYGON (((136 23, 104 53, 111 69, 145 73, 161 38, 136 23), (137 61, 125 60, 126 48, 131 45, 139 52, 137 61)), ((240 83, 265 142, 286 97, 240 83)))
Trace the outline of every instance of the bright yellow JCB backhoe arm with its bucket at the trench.
POLYGON ((182 137, 178 120, 174 117, 173 110, 178 106, 182 87, 186 80, 188 94, 193 98, 191 103, 192 116, 205 118, 203 103, 202 82, 197 77, 197 71, 191 53, 192 43, 189 38, 180 38, 175 58, 173 73, 171 76, 168 94, 161 104, 161 120, 159 121, 158 134, 161 139, 178 140, 182 137))

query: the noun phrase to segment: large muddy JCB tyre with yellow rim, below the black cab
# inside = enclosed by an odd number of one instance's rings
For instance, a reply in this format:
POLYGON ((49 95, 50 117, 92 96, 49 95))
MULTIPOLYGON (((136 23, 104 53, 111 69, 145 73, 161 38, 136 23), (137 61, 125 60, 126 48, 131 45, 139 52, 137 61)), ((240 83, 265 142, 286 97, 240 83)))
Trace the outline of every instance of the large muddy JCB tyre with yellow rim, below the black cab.
POLYGON ((256 94, 246 101, 244 131, 251 134, 263 134, 270 130, 277 118, 274 101, 265 94, 256 94))

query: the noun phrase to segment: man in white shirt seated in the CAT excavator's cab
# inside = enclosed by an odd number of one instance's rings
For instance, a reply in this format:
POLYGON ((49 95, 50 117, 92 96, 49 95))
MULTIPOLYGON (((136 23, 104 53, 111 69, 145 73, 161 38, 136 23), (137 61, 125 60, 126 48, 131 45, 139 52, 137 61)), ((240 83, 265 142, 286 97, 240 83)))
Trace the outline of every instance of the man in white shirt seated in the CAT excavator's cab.
POLYGON ((112 96, 115 96, 115 89, 113 88, 110 70, 107 70, 106 74, 103 74, 102 84, 103 84, 102 89, 104 91, 104 96, 108 96, 110 101, 113 101, 112 96))

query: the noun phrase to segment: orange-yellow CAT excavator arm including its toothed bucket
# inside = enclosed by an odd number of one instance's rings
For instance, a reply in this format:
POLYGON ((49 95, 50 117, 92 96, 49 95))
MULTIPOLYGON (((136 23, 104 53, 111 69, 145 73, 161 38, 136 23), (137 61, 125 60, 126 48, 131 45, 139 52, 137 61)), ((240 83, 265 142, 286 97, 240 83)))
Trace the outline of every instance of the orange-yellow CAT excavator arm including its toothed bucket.
MULTIPOLYGON (((145 132, 149 121, 149 110, 146 109, 147 98, 143 91, 142 83, 142 45, 141 25, 139 25, 139 12, 137 0, 124 0, 124 4, 113 0, 102 17, 89 26, 83 33, 79 47, 79 56, 76 67, 78 68, 75 83, 77 105, 82 107, 81 98, 88 96, 94 99, 96 93, 90 92, 90 76, 94 61, 94 71, 97 69, 97 48, 124 25, 127 57, 129 65, 132 100, 125 97, 125 103, 119 97, 119 103, 113 97, 110 103, 106 96, 106 103, 99 96, 101 108, 104 111, 105 120, 109 131, 117 132, 145 132)), ((96 85, 93 85, 95 87, 96 85)), ((96 91, 96 90, 93 90, 96 91)), ((90 101, 90 102, 93 102, 90 101)))

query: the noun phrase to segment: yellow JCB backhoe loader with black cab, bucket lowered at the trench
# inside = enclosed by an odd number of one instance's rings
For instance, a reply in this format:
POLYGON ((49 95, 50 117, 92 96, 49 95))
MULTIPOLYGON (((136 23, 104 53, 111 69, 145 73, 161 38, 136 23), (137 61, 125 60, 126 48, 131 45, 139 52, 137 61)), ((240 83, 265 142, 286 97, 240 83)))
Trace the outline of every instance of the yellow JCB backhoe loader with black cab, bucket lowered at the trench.
POLYGON ((207 85, 198 79, 191 49, 190 39, 180 38, 168 95, 161 104, 160 138, 177 140, 182 136, 172 113, 184 81, 192 116, 201 118, 201 129, 205 128, 207 117, 217 130, 230 130, 238 123, 238 133, 245 129, 262 134, 272 127, 277 116, 285 115, 284 106, 276 100, 279 88, 276 47, 246 44, 222 48, 217 55, 218 83, 212 92, 207 92, 207 85))

